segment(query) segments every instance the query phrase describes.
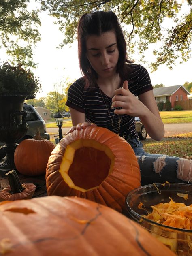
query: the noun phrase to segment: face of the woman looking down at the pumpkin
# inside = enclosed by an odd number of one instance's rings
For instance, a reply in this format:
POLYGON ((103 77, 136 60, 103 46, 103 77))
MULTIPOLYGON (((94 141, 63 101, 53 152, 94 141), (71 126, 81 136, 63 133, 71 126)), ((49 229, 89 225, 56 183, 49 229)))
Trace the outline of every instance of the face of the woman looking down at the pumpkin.
POLYGON ((111 77, 116 74, 119 50, 115 32, 88 36, 86 49, 87 59, 98 77, 111 77))

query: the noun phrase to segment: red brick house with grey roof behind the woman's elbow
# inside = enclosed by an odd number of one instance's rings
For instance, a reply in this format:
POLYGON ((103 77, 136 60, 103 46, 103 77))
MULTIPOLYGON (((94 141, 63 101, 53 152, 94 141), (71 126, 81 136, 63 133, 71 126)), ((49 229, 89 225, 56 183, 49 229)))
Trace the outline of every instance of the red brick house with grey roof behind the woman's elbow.
POLYGON ((172 109, 175 107, 175 101, 187 100, 190 95, 183 85, 154 88, 153 92, 157 103, 161 101, 165 103, 166 100, 169 100, 172 109))

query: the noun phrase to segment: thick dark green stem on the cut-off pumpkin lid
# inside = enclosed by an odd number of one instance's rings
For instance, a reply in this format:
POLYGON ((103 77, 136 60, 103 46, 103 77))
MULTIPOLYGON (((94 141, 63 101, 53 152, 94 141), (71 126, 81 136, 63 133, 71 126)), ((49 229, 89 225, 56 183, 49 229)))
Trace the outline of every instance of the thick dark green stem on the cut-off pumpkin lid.
POLYGON ((9 173, 6 173, 7 178, 9 180, 9 186, 11 188, 10 194, 16 194, 21 193, 24 188, 19 180, 19 177, 15 170, 9 171, 9 173))

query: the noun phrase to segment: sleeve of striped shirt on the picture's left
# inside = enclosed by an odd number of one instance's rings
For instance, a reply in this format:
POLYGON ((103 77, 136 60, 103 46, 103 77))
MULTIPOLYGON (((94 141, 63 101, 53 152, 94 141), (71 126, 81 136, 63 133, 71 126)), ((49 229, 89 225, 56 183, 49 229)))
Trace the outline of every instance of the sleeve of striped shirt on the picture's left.
POLYGON ((78 80, 75 81, 72 85, 70 85, 65 105, 79 112, 85 113, 83 86, 80 82, 78 82, 78 80))

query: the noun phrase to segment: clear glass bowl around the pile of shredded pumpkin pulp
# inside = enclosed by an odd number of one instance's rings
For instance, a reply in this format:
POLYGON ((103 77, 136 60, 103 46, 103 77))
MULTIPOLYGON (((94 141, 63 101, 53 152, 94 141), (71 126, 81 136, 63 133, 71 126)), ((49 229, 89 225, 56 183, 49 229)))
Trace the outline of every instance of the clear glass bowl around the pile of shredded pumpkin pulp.
POLYGON ((176 203, 192 204, 192 185, 184 183, 156 183, 141 186, 129 192, 126 198, 126 215, 147 229, 151 235, 167 245, 179 256, 192 255, 192 230, 174 228, 156 223, 142 215, 151 213, 151 205, 168 203, 169 197, 176 203), (188 194, 188 199, 177 195, 188 194), (139 203, 143 208, 139 209, 139 203))

